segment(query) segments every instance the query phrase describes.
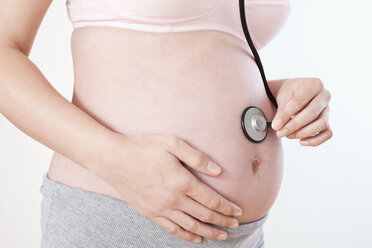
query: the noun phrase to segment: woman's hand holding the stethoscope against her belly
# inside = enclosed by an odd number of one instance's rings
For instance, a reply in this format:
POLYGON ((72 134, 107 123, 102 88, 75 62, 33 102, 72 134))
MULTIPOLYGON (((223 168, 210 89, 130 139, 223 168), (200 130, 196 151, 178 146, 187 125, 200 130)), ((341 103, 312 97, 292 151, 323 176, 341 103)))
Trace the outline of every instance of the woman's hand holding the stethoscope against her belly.
POLYGON ((328 123, 331 94, 318 78, 287 79, 276 95, 278 110, 272 122, 277 136, 317 146, 332 137, 328 123))

